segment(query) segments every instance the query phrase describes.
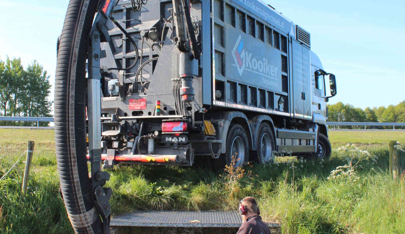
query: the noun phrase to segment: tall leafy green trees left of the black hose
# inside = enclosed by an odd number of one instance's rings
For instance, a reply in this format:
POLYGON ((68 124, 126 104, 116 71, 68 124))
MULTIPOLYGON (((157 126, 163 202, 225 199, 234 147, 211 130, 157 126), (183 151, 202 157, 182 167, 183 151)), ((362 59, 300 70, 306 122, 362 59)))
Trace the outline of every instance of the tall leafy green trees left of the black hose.
MULTIPOLYGON (((21 58, 0 59, 0 116, 51 117, 49 75, 36 60, 24 69, 21 58)), ((36 122, 5 122, 1 126, 32 126, 36 122)), ((48 123, 40 122, 40 126, 48 123)))

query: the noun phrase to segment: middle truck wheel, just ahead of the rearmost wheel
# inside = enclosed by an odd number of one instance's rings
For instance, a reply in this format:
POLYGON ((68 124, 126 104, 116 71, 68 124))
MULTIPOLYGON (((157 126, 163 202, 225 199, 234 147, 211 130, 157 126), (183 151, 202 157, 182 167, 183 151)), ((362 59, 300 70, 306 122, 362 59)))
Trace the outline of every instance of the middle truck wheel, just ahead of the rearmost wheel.
POLYGON ((257 139, 257 157, 261 164, 272 163, 274 161, 273 150, 274 136, 270 126, 262 123, 259 127, 257 139))

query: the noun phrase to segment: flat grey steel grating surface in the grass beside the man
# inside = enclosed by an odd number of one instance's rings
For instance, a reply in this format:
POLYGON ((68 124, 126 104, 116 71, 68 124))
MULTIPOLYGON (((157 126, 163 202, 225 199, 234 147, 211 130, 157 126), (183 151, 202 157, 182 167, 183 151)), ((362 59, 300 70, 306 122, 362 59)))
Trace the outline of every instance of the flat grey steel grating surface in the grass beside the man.
MULTIPOLYGON (((136 211, 111 219, 116 227, 239 228, 239 213, 230 211, 136 211)), ((279 227, 268 223, 269 228, 279 227)))

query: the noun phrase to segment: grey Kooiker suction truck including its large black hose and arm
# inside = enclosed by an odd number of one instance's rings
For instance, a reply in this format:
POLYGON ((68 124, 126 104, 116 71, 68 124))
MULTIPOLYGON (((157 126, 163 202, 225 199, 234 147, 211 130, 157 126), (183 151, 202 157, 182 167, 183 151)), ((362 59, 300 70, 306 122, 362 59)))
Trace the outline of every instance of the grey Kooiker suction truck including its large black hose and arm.
POLYGON ((109 232, 120 163, 327 160, 336 94, 311 34, 260 0, 70 0, 55 145, 72 227, 109 232))

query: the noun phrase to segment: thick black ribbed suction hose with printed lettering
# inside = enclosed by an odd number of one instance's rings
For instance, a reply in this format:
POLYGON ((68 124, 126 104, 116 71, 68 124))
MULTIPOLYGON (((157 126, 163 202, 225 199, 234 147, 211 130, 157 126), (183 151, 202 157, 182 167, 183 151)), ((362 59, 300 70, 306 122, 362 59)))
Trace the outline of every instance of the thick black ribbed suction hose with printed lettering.
POLYGON ((86 159, 87 39, 99 0, 70 0, 58 46, 55 145, 60 187, 76 233, 103 233, 86 159))

